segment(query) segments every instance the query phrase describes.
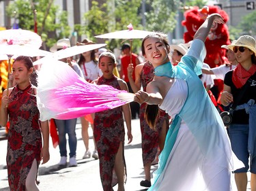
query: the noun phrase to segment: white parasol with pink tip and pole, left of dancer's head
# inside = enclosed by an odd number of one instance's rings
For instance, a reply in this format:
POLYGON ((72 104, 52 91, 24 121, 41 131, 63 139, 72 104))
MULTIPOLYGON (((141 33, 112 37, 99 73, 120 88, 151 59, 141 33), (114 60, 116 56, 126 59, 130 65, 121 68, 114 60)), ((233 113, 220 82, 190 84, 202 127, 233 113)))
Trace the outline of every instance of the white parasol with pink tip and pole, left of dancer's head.
POLYGON ((130 63, 132 63, 132 39, 143 39, 153 32, 134 30, 132 24, 129 24, 127 28, 128 30, 115 31, 113 33, 106 33, 95 37, 102 39, 130 39, 130 63))

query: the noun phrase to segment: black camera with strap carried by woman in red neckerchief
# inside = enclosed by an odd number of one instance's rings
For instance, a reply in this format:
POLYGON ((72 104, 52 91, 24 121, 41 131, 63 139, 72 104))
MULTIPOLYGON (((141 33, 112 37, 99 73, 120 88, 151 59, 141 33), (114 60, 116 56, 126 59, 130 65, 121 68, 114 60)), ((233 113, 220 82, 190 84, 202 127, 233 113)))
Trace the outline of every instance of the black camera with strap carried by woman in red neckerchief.
POLYGON ((246 81, 246 84, 242 87, 242 90, 240 92, 240 94, 238 94, 238 99, 236 99, 235 102, 233 102, 233 104, 231 105, 229 111, 223 111, 221 112, 221 119, 223 120, 223 123, 225 124, 225 126, 229 126, 232 122, 232 117, 233 117, 233 111, 235 111, 236 106, 238 105, 238 102, 242 99, 245 90, 247 89, 247 87, 249 86, 249 84, 251 84, 253 80, 251 79, 251 77, 246 81))

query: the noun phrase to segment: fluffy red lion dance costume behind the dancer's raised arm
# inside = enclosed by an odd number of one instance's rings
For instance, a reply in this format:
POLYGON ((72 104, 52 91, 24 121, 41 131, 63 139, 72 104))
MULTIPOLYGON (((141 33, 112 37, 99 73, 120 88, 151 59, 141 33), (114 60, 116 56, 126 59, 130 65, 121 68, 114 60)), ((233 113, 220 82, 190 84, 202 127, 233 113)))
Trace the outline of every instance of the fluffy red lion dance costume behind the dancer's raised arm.
MULTIPOLYGON (((184 12, 185 20, 182 21, 182 25, 187 29, 184 33, 185 43, 193 40, 195 32, 199 29, 201 24, 203 24, 205 18, 213 13, 220 14, 224 18, 225 23, 229 20, 227 13, 216 5, 203 6, 201 9, 199 9, 199 7, 193 7, 184 12)), ((211 68, 228 63, 227 57, 225 56, 226 50, 221 48, 224 44, 230 44, 227 24, 214 24, 205 41, 207 55, 204 62, 211 68)), ((223 82, 222 80, 214 80, 214 82, 217 86, 215 96, 218 97, 218 93, 223 90, 223 82)))

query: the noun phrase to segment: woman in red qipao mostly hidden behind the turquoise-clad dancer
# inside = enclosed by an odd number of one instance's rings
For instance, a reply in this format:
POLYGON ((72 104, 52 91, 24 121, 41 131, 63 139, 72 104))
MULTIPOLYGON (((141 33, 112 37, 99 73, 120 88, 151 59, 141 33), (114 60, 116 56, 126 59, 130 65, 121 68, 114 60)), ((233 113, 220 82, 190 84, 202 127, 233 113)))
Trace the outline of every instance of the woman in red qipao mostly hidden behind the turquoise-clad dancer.
MULTIPOLYGON (((147 84, 153 80, 154 67, 146 61, 137 65, 135 68, 132 64, 128 65, 128 78, 133 92, 141 90, 141 86, 145 91, 147 84), (135 71, 135 82, 132 79, 132 73, 135 71)), ((141 124, 141 148, 145 179, 140 182, 141 186, 151 186, 151 165, 158 163, 158 155, 165 145, 165 137, 169 128, 169 116, 165 111, 159 110, 158 119, 156 120, 156 128, 152 129, 145 120, 146 107, 150 107, 147 103, 142 103, 139 110, 139 120, 141 124)), ((154 112, 154 108, 152 112, 154 112)))

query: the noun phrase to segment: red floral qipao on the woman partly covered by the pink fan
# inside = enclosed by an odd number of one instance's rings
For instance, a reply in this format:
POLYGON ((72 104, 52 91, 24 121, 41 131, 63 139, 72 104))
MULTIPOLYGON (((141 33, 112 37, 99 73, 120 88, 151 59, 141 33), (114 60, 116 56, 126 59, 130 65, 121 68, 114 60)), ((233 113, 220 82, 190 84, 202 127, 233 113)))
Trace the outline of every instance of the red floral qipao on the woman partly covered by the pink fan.
MULTIPOLYGON (((104 77, 98 79, 98 85, 105 84, 120 90, 117 77, 106 80, 104 77)), ((114 164, 120 143, 123 145, 124 153, 124 118, 122 107, 100 111, 95 113, 94 139, 96 141, 98 156, 100 160, 100 178, 103 190, 113 190, 117 184, 114 164)), ((124 162, 124 182, 126 182, 126 162, 124 162)))

